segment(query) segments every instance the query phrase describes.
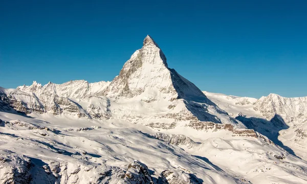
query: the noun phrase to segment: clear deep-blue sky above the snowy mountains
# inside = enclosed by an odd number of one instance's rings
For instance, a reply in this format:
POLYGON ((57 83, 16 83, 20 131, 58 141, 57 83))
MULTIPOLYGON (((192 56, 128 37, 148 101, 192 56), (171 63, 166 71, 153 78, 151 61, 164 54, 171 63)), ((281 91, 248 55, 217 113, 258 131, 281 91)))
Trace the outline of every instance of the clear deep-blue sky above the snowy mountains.
POLYGON ((307 96, 307 1, 0 0, 0 86, 110 81, 147 34, 202 90, 307 96))

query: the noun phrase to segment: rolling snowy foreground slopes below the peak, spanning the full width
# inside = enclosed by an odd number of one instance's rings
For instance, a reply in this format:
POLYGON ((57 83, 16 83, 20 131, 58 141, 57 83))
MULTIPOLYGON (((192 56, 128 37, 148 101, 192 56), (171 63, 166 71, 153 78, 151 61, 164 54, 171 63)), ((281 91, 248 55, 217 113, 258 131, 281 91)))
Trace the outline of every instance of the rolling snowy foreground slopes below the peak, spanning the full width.
POLYGON ((4 183, 21 178, 34 183, 307 181, 307 163, 262 135, 242 137, 227 130, 199 132, 189 127, 157 133, 125 121, 48 114, 28 118, 0 112, 0 119, 4 183))

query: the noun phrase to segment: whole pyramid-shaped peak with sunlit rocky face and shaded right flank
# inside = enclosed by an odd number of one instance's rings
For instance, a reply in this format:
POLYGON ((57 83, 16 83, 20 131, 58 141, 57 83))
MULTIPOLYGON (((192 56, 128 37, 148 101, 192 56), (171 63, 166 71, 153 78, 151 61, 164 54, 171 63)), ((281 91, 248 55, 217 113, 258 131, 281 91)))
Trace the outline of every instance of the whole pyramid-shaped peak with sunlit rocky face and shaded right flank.
MULTIPOLYGON (((200 120, 234 126, 237 124, 198 87, 170 69, 162 50, 148 35, 143 41, 143 47, 124 64, 120 74, 105 88, 102 95, 118 103, 125 100, 130 104, 135 103, 129 107, 130 113, 122 112, 124 116, 120 115, 120 119, 134 121, 167 118, 173 120, 171 123, 200 120), (137 109, 139 102, 143 106, 157 109, 159 114, 152 116, 151 113, 144 113, 145 110, 137 109)), ((168 128, 171 123, 163 127, 168 128)), ((160 127, 160 121, 158 124, 151 122, 150 126, 160 127)))

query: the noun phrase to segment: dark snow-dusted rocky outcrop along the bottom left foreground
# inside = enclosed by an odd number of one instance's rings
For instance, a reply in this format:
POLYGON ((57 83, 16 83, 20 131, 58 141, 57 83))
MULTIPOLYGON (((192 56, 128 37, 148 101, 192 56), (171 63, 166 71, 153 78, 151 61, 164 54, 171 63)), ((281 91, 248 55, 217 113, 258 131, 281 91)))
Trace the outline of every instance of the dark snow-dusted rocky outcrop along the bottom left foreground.
POLYGON ((82 163, 32 159, 1 150, 0 183, 201 183, 196 176, 184 171, 165 170, 159 179, 152 178, 148 167, 138 160, 131 162, 124 171, 112 166, 86 166, 82 163), (91 174, 86 176, 86 173, 91 174))

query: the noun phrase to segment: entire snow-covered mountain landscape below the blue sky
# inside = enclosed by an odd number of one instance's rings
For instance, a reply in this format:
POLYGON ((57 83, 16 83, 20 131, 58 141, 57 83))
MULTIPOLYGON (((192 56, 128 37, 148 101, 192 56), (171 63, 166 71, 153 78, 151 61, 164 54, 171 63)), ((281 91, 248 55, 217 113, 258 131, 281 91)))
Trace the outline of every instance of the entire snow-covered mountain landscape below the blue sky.
POLYGON ((111 82, 0 87, 0 183, 307 183, 307 97, 201 91, 143 47, 111 82))

